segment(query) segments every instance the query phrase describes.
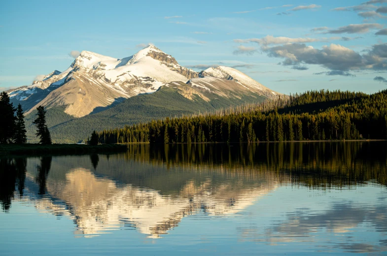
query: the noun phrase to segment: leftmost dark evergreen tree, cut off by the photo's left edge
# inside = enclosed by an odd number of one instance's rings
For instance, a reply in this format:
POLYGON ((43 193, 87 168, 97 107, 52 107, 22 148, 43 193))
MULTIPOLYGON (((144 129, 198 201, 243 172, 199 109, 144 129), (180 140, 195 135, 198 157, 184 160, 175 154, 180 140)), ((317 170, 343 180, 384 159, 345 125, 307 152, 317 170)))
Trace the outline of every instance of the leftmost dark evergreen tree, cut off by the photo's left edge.
POLYGON ((15 132, 14 115, 15 108, 10 103, 9 96, 6 92, 0 94, 0 113, 1 113, 1 125, 0 125, 0 143, 8 143, 15 132))

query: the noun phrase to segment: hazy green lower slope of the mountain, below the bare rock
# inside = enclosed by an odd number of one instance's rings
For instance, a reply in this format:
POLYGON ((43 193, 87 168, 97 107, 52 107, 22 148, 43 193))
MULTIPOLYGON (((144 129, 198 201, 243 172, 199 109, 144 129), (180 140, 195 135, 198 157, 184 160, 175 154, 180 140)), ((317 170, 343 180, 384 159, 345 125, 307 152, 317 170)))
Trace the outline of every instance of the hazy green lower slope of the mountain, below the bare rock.
MULTIPOLYGON (((211 79, 219 80, 217 82, 223 81, 218 78, 211 79)), ((219 83, 216 85, 220 87, 219 83)), ((172 82, 153 94, 131 97, 116 106, 81 118, 70 119, 71 116, 60 114, 60 109, 51 108, 47 111, 47 119, 55 119, 58 122, 49 125, 54 142, 74 143, 90 136, 93 130, 124 127, 157 118, 211 112, 245 102, 260 102, 267 99, 264 96, 247 92, 222 91, 222 94, 219 95, 208 89, 182 82, 172 82)), ((35 111, 32 114, 34 113, 35 111)), ((34 141, 35 128, 30 116, 30 122, 27 122, 29 135, 31 135, 29 138, 34 141)))

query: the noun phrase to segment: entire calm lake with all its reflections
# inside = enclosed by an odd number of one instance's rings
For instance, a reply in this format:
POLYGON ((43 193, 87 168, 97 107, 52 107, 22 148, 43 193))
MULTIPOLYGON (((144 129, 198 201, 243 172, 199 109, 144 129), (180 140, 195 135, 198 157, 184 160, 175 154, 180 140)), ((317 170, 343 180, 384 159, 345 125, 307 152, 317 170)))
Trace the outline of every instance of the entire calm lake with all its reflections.
POLYGON ((0 255, 386 254, 387 142, 0 160, 0 255))

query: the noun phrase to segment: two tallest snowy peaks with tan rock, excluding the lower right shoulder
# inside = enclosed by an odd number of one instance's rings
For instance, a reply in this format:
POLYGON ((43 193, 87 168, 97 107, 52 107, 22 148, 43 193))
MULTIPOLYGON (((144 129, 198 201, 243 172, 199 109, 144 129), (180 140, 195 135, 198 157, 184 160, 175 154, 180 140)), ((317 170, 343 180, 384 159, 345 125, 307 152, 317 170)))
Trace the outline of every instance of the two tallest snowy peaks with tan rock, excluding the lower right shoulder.
POLYGON ((42 81, 12 92, 11 96, 15 101, 24 100, 27 114, 39 105, 66 106, 67 114, 82 117, 124 98, 153 93, 166 83, 186 82, 187 76, 196 77, 197 72, 180 66, 172 56, 153 45, 123 59, 82 51, 66 71, 55 70, 42 81), (40 96, 31 97, 34 93, 40 96), (32 105, 30 97, 34 98, 32 105))

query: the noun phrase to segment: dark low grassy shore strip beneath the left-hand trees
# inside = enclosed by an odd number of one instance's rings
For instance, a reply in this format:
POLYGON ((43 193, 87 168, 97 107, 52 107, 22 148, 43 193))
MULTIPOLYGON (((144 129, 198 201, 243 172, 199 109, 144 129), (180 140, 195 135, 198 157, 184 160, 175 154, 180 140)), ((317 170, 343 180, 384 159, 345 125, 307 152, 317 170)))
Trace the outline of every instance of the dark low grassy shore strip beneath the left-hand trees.
POLYGON ((82 144, 0 144, 0 156, 6 155, 41 155, 41 154, 86 154, 102 152, 124 152, 126 145, 101 144, 97 146, 82 144))

